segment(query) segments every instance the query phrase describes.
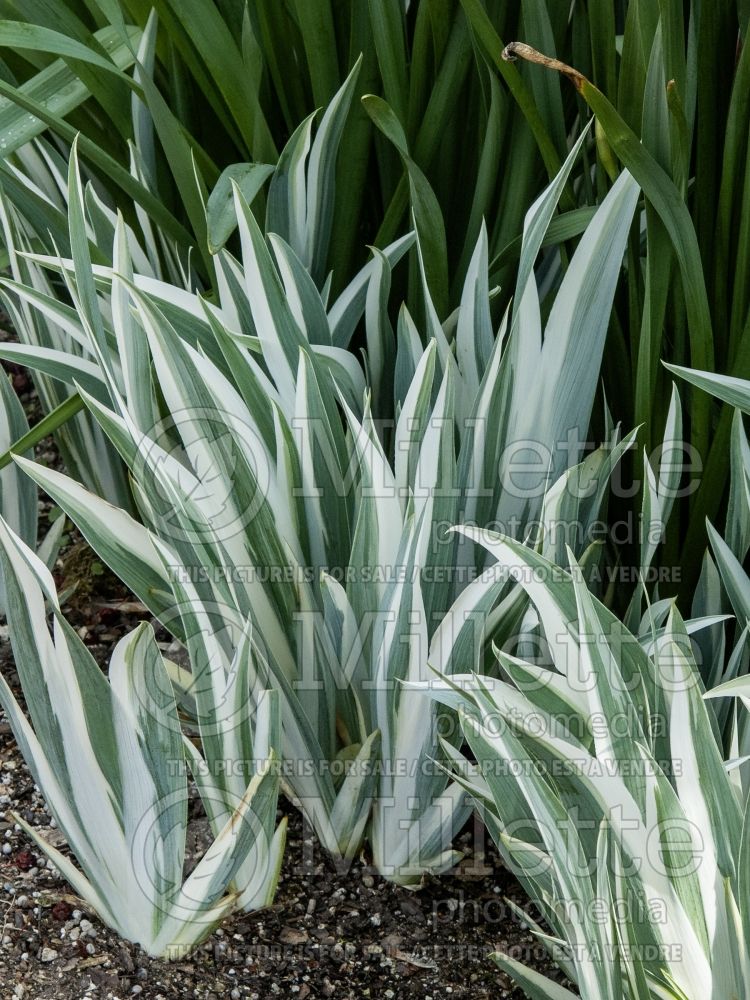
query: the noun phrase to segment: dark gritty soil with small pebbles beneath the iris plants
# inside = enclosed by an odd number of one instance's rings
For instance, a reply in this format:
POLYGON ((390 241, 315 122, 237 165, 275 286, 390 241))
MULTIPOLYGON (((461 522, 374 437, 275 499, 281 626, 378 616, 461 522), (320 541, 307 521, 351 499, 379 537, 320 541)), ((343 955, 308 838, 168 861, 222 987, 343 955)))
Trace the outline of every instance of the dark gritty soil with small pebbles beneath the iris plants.
MULTIPOLYGON (((33 386, 13 374, 31 417, 33 386)), ((38 454, 56 464, 49 443, 38 454)), ((40 534, 54 515, 42 498, 40 534)), ((146 609, 73 528, 54 575, 66 617, 105 667, 146 609)), ((0 671, 20 696, 7 631, 0 623, 0 671)), ((457 841, 464 860, 415 892, 384 881, 365 857, 337 866, 281 805, 290 825, 274 905, 236 915, 184 961, 154 960, 104 927, 14 824, 11 811, 65 850, 0 712, 0 1000, 521 998, 489 960, 496 950, 564 982, 511 912, 508 899, 529 904, 477 820, 457 841)))

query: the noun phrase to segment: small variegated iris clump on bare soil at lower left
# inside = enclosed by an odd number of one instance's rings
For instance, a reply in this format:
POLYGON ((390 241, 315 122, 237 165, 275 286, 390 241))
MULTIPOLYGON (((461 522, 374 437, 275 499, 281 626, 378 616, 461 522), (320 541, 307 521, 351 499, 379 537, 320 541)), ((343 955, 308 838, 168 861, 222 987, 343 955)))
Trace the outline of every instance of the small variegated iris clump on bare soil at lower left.
MULTIPOLYGON (((209 785, 200 751, 180 730, 153 630, 143 624, 117 644, 107 680, 61 615, 49 571, 2 520, 0 566, 28 718, 1 676, 0 704, 80 868, 16 822, 106 924, 151 955, 183 956, 237 907, 268 905, 285 833, 285 822, 274 832, 278 696, 257 699, 255 743, 249 725, 236 727, 242 766, 209 785), (186 876, 188 764, 214 839, 186 876)), ((240 681, 249 655, 246 642, 234 664, 240 681)))

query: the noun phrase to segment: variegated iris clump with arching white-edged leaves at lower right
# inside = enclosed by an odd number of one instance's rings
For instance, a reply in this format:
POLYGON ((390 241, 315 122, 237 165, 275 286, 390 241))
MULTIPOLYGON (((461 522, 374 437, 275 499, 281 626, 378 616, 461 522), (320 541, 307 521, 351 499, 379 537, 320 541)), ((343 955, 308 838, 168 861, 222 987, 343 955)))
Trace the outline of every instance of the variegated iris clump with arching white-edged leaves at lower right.
MULTIPOLYGON (((569 570, 470 532, 535 615, 503 678, 430 686, 460 713, 459 776, 539 916, 522 913, 585 1000, 748 996, 750 805, 675 609, 630 632, 569 570), (534 644, 538 655, 516 655, 534 644)), ((704 623, 708 624, 708 623, 704 623)), ((714 696, 747 692, 735 681, 714 696)), ((576 995, 507 955, 531 997, 576 995)))

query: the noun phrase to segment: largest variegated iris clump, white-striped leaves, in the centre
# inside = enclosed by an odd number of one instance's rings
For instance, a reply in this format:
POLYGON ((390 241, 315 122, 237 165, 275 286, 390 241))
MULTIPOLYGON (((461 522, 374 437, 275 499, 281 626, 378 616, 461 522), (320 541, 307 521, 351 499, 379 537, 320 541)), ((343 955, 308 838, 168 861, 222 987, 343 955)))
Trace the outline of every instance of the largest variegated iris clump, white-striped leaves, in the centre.
MULTIPOLYGON (((628 444, 612 430, 586 459, 593 499, 566 489, 582 475, 568 470, 582 444, 571 456, 561 442, 586 440, 638 197, 623 174, 564 273, 556 254, 546 259, 556 294, 543 326, 534 263, 584 138, 528 213, 499 332, 484 235, 458 313, 441 324, 425 279, 419 319, 402 307, 394 331, 391 269, 413 237, 376 252, 330 304, 304 247, 263 237, 241 183, 228 190, 242 256, 215 247, 220 294, 205 299, 154 273, 122 218, 99 213, 93 226, 75 148, 71 256, 24 258, 64 282, 72 308, 6 286, 54 322, 77 317, 80 354, 14 356, 77 387, 130 471, 141 521, 18 462, 184 645, 190 668, 171 677, 209 774, 242 753, 247 719, 227 687, 241 685, 240 701, 272 687, 283 781, 321 842, 351 857, 368 836, 378 867, 404 884, 453 863, 471 802, 431 762, 444 713, 402 681, 424 679, 428 663, 478 662, 523 610, 504 584, 466 586, 487 560, 445 529, 512 524, 551 551, 559 541, 546 526, 576 521, 581 551, 628 444), (111 267, 93 263, 92 242, 111 267), (362 317, 364 368, 347 350, 362 317), (381 420, 394 405, 395 424, 381 420)), ((283 189, 287 226, 304 215, 309 171, 283 189)))

